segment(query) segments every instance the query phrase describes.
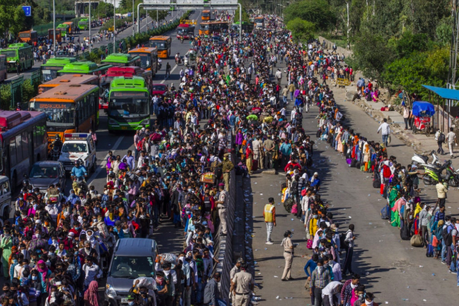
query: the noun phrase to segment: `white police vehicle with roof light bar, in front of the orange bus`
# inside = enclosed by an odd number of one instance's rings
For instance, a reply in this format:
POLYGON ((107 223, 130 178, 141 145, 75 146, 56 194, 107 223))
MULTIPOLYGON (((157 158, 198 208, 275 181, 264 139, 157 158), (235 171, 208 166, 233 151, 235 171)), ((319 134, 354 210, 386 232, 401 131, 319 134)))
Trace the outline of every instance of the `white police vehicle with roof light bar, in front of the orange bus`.
POLYGON ((94 172, 97 167, 96 148, 89 133, 64 134, 63 145, 59 162, 64 165, 65 171, 72 171, 75 161, 81 164, 88 172, 94 172))

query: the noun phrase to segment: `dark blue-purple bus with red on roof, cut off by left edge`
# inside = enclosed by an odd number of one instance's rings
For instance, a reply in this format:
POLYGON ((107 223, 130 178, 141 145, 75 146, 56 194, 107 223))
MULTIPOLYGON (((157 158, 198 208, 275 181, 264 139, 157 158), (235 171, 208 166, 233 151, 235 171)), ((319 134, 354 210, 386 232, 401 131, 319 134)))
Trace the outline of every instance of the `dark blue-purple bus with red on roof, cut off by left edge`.
POLYGON ((0 111, 0 173, 10 178, 13 189, 33 163, 47 157, 46 117, 42 112, 0 111))

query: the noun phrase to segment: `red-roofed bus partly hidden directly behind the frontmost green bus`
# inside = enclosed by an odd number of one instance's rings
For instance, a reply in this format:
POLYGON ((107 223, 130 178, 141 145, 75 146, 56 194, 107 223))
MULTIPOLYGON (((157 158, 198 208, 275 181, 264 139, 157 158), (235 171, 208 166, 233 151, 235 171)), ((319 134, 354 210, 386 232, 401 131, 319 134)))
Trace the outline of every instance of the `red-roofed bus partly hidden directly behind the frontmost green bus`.
POLYGON ((117 76, 141 76, 145 80, 145 85, 150 92, 153 89, 153 74, 151 70, 144 70, 140 67, 111 67, 107 70, 107 73, 100 77, 100 96, 99 96, 99 109, 108 109, 108 93, 110 89, 110 83, 113 78, 117 76))

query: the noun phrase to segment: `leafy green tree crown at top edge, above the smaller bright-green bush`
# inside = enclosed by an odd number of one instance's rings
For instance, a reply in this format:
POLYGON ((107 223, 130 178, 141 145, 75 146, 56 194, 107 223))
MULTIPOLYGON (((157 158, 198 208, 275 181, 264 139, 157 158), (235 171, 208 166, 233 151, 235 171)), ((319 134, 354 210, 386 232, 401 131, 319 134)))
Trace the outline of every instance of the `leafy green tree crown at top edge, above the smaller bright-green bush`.
POLYGON ((284 19, 287 24, 296 18, 312 22, 321 30, 331 28, 336 22, 332 8, 325 0, 301 0, 285 8, 284 19))

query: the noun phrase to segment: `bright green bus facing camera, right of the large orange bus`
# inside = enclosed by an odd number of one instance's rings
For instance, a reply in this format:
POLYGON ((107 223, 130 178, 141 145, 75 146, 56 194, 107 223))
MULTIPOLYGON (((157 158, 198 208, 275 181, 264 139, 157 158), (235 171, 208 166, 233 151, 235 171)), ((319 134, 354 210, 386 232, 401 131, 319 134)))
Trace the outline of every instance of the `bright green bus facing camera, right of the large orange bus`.
POLYGON ((141 76, 117 76, 108 91, 108 132, 150 127, 150 94, 141 76))

